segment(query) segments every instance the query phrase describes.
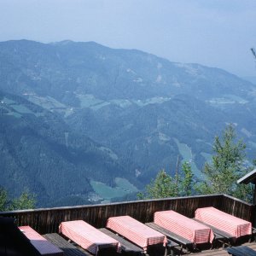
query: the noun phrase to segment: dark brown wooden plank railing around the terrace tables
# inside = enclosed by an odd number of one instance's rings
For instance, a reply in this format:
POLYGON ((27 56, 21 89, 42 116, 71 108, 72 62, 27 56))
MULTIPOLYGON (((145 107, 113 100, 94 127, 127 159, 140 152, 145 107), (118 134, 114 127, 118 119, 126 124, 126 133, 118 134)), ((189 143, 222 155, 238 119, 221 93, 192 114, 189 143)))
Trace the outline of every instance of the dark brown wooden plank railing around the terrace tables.
POLYGON ((30 225, 40 234, 46 234, 57 232, 62 221, 83 219, 96 228, 101 228, 106 226, 109 217, 130 215, 146 223, 153 221, 154 212, 170 209, 193 218, 195 210, 200 207, 216 207, 238 218, 254 221, 253 205, 229 195, 200 195, 105 205, 0 212, 0 216, 16 218, 18 225, 30 225))

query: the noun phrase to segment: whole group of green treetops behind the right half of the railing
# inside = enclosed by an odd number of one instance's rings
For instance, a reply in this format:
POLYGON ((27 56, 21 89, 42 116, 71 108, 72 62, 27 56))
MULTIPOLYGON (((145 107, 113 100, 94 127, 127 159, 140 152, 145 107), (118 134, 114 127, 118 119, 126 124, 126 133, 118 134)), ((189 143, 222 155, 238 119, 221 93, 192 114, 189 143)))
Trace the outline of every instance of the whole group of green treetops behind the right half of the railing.
POLYGON ((236 140, 236 132, 232 125, 227 125, 222 137, 215 137, 212 162, 206 163, 203 169, 205 179, 201 183, 193 180, 191 166, 184 162, 182 175, 178 172, 174 177, 164 170, 146 186, 146 192, 137 195, 139 199, 157 199, 171 196, 192 195, 194 190, 199 194, 227 194, 244 201, 252 201, 253 186, 238 184, 237 180, 250 172, 244 166, 246 160, 246 144, 236 140))

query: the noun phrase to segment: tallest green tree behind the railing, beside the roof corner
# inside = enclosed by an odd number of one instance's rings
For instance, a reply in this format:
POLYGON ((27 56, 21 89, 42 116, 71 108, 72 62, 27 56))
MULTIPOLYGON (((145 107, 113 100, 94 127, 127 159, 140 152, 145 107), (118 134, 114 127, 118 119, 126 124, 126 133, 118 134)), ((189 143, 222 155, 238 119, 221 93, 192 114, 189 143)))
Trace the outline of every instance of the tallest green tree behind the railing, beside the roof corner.
POLYGON ((201 194, 227 194, 249 201, 252 195, 251 186, 237 184, 236 181, 245 175, 246 145, 241 140, 236 141, 236 132, 228 125, 222 137, 215 137, 213 143, 214 155, 212 162, 206 163, 203 169, 205 180, 197 190, 201 194))

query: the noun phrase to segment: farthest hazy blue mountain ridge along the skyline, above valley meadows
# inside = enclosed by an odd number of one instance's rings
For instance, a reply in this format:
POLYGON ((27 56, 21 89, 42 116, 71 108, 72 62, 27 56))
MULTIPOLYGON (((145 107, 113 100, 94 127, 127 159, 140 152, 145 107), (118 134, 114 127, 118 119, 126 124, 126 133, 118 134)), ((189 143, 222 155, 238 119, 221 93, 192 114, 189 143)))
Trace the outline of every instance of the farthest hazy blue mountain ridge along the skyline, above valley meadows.
MULTIPOLYGON (((188 94, 210 100, 224 93, 251 98, 255 86, 218 68, 181 64, 138 50, 65 41, 0 43, 1 88, 20 95, 52 96, 73 107, 91 101, 188 94)), ((95 103, 95 102, 94 102, 95 103)))

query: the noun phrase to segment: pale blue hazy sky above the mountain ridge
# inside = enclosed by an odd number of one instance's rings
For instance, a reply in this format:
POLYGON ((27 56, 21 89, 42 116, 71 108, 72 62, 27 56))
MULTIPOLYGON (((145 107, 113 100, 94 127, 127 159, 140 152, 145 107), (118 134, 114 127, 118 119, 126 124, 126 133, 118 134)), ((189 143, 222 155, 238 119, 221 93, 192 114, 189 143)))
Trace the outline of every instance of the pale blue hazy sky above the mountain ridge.
POLYGON ((0 41, 95 41, 256 76, 256 0, 0 0, 0 41))

